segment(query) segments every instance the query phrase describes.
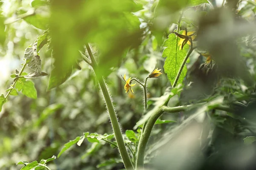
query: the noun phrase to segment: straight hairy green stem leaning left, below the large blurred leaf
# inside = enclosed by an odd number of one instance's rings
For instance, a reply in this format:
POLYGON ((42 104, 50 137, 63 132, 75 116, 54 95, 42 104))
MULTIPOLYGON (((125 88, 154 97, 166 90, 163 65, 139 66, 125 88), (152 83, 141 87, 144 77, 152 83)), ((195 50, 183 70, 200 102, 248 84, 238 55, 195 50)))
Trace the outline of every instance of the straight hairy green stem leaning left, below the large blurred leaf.
POLYGON ((93 56, 93 53, 90 49, 89 44, 87 43, 85 45, 85 47, 88 51, 88 54, 89 54, 89 57, 90 57, 90 60, 91 60, 91 63, 92 63, 93 70, 96 74, 96 78, 99 82, 99 86, 102 90, 102 94, 103 94, 105 103, 107 105, 109 117, 110 117, 110 120, 111 120, 111 125, 113 127, 113 132, 114 132, 114 135, 115 135, 115 138, 116 138, 117 147, 119 149, 122 161, 123 161, 126 169, 134 169, 133 165, 131 163, 131 159, 129 157, 129 154, 126 150, 125 142, 122 138, 122 132, 120 130, 120 126, 119 126, 119 123, 118 123, 118 119, 117 119, 117 116, 116 116, 115 109, 113 107, 113 103, 111 101, 111 97, 110 97, 110 93, 108 91, 108 88, 105 84, 105 81, 104 81, 103 77, 99 73, 97 73, 98 72, 98 66, 97 66, 96 60, 93 56))

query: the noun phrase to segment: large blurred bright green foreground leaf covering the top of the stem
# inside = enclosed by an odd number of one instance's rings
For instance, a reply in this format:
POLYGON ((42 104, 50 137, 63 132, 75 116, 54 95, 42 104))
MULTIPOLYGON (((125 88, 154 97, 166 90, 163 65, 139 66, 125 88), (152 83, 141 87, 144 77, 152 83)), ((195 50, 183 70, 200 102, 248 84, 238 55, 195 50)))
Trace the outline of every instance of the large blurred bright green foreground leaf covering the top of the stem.
POLYGON ((80 57, 80 48, 87 42, 97 43, 100 51, 97 73, 105 76, 110 73, 109 68, 119 63, 127 48, 140 44, 140 21, 131 12, 142 9, 142 6, 132 0, 51 2, 50 27, 56 77, 65 77, 80 57))

